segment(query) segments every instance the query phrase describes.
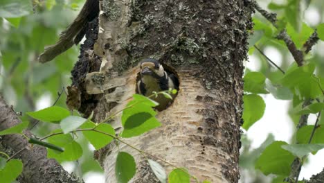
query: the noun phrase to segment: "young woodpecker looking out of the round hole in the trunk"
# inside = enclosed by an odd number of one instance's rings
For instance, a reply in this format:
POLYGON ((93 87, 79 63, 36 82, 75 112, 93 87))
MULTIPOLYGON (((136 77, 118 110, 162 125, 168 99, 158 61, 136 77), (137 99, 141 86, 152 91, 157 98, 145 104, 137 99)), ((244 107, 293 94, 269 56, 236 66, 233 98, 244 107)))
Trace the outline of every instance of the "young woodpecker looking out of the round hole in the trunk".
MULTIPOLYGON (((153 92, 161 92, 168 89, 179 90, 179 80, 173 73, 168 73, 164 70, 162 64, 158 60, 147 58, 141 62, 140 78, 137 82, 137 91, 143 96, 151 96, 153 92)), ((174 95, 171 94, 174 99, 174 95)), ((163 95, 159 95, 152 100, 159 103, 156 106, 156 110, 165 110, 172 101, 170 98, 165 98, 163 95)))

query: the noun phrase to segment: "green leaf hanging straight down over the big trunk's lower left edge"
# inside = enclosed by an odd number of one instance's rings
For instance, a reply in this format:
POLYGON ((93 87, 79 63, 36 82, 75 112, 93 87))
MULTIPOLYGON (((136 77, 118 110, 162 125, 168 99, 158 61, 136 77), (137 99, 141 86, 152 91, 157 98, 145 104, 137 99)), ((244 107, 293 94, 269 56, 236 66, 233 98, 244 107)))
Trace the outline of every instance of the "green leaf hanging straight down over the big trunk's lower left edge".
POLYGON ((135 159, 126 152, 120 152, 116 160, 116 177, 118 183, 127 183, 136 173, 135 159))

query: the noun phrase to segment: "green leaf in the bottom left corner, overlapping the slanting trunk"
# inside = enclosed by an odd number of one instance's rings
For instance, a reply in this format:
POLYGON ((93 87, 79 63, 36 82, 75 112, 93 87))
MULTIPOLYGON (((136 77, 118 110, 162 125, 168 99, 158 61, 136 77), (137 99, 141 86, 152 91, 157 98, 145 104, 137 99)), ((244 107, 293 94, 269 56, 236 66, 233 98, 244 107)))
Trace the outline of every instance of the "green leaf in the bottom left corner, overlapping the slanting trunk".
POLYGON ((11 183, 22 172, 23 164, 19 159, 11 159, 7 162, 5 168, 0 170, 1 183, 11 183))

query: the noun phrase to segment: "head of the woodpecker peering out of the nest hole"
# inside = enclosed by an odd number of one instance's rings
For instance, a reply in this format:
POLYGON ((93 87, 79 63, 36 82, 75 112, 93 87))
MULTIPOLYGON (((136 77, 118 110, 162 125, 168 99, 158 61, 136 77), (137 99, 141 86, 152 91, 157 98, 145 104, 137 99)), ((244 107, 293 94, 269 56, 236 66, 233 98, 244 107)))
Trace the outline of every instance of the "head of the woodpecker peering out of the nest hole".
POLYGON ((141 62, 141 78, 164 76, 164 69, 158 60, 147 58, 141 62))

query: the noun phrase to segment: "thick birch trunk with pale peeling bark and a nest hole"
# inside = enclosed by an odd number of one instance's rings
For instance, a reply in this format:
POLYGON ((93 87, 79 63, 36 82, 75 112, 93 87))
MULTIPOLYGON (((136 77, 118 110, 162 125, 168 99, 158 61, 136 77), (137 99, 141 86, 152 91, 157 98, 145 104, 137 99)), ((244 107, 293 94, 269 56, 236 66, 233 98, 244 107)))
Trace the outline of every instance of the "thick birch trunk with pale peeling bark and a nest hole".
MULTIPOLYGON (((98 40, 86 51, 89 62, 101 60, 100 70, 73 76, 82 92, 80 111, 94 110, 98 122, 122 110, 136 92, 138 62, 155 58, 177 73, 179 93, 157 115, 161 127, 125 141, 188 168, 199 180, 238 182, 243 60, 252 12, 249 1, 100 1, 98 40)), ((120 116, 110 123, 120 129, 120 116)), ((118 151, 136 159, 132 182, 159 182, 141 154, 123 143, 96 152, 106 182, 116 182, 118 151)))

